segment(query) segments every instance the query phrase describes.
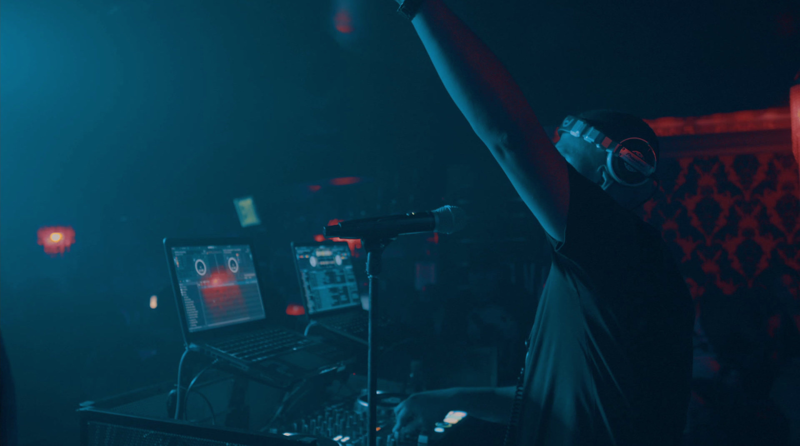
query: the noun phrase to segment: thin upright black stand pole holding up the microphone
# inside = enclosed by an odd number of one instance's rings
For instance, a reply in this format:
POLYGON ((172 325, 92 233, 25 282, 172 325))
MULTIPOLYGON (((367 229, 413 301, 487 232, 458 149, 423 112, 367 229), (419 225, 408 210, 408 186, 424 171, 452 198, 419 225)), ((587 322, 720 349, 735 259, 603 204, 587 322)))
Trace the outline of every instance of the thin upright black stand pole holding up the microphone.
POLYGON ((375 329, 377 328, 375 317, 375 303, 378 301, 378 275, 381 273, 381 255, 383 249, 392 238, 365 238, 362 239, 364 249, 366 249, 366 275, 370 278, 370 322, 367 334, 367 353, 366 353, 366 404, 368 408, 366 418, 367 446, 377 446, 378 428, 378 375, 375 370, 375 329))

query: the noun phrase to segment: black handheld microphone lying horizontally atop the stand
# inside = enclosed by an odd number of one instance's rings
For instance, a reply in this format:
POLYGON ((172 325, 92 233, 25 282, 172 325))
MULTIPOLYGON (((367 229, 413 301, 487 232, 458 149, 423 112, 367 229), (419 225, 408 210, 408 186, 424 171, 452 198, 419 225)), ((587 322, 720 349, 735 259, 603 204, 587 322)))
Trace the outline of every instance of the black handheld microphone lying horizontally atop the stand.
POLYGON ((385 217, 359 218, 322 228, 325 237, 393 238, 402 234, 454 233, 466 226, 466 213, 456 206, 418 213, 398 213, 385 217))

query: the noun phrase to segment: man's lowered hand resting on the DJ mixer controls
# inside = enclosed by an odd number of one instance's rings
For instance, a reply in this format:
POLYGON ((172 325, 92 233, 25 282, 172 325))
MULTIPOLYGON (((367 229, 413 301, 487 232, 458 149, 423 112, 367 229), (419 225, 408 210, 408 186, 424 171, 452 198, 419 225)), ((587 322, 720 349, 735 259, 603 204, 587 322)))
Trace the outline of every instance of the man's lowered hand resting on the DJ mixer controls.
POLYGON ((419 432, 430 430, 437 421, 441 421, 447 412, 459 404, 458 388, 443 388, 429 392, 414 393, 394 408, 395 435, 400 438, 413 436, 419 432))

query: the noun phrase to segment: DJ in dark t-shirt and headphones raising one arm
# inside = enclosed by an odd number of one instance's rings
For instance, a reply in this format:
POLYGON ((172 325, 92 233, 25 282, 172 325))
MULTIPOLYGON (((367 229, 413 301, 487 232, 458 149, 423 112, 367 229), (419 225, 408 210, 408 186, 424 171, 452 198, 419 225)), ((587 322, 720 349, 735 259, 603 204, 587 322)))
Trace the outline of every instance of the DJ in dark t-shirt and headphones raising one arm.
MULTIPOLYGON (((680 444, 692 361, 691 298, 660 234, 625 207, 646 200, 652 172, 643 168, 646 181, 619 181, 614 172, 625 171, 611 165, 619 158, 586 133, 570 131, 580 120, 637 145, 640 161, 650 150, 646 165, 654 167, 652 129, 626 113, 593 111, 566 120, 566 133, 553 145, 508 71, 442 0, 406 0, 400 10, 553 246, 529 337, 516 443, 680 444), (642 149, 642 141, 651 148, 642 149)), ((395 410, 394 431, 430 428, 453 409, 506 423, 515 390, 414 394, 395 410)))

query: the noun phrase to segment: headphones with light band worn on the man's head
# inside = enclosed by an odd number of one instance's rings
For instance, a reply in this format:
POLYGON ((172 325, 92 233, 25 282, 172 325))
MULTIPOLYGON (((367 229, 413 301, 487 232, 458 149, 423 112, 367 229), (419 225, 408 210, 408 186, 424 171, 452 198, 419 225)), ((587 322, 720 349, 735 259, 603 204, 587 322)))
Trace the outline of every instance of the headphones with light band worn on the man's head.
MULTIPOLYGON (((658 162, 655 150, 649 142, 641 137, 629 137, 622 141, 612 141, 597 128, 588 122, 574 116, 567 116, 558 127, 558 134, 570 133, 574 137, 583 137, 584 140, 596 145, 598 149, 606 150, 606 172, 614 181, 626 186, 640 186, 653 179, 656 163, 658 162)), ((602 189, 610 184, 604 177, 602 189)))

